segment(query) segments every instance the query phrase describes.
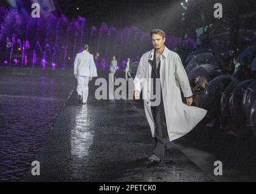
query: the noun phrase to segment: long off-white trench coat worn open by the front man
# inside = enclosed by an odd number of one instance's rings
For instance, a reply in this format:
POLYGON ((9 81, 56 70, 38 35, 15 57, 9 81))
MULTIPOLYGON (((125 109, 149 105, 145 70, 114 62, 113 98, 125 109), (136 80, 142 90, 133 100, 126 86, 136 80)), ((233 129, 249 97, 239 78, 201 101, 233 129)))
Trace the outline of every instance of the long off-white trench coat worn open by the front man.
MULTIPOLYGON (((155 124, 150 107, 152 67, 149 62, 149 60, 153 61, 153 58, 154 49, 145 53, 140 59, 136 78, 134 79, 134 91, 141 92, 143 87, 143 92, 147 96, 147 98, 144 96, 144 108, 152 136, 154 137, 155 124)), ((165 47, 160 59, 162 98, 165 107, 167 131, 170 141, 173 141, 189 133, 206 116, 207 110, 189 106, 182 102, 181 89, 185 98, 192 96, 193 93, 179 55, 165 47)))

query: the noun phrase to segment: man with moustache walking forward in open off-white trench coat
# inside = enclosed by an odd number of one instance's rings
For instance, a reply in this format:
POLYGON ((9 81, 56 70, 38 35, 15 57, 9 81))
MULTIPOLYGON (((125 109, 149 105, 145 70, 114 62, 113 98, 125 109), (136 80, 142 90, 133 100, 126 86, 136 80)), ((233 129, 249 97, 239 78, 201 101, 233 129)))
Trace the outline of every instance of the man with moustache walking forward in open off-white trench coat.
POLYGON ((179 55, 165 47, 165 33, 151 32, 154 49, 140 59, 134 79, 134 98, 143 89, 144 109, 156 147, 150 161, 162 161, 167 141, 189 133, 207 110, 191 106, 193 93, 179 55), (157 81, 158 85, 157 86, 157 81), (153 87, 153 88, 152 88, 153 87), (181 89, 187 104, 182 102, 181 89), (153 101, 152 96, 155 100, 153 101))

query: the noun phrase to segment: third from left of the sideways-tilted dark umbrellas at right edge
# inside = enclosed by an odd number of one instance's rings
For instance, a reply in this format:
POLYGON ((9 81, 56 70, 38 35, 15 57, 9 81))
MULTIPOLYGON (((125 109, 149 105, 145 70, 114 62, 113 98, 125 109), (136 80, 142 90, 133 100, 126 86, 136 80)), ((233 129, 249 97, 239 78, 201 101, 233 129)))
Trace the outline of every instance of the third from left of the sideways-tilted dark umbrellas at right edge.
POLYGON ((243 112, 243 95, 249 84, 254 81, 254 79, 247 79, 241 82, 233 90, 232 95, 229 99, 229 111, 232 119, 234 132, 240 132, 241 127, 246 125, 246 115, 243 112))

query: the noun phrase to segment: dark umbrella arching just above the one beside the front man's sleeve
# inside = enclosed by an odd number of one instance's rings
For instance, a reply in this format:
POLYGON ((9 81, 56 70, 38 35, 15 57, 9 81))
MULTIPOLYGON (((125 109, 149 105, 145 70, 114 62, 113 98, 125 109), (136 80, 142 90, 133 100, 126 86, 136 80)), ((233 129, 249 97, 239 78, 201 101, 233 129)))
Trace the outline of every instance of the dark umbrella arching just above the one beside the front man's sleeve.
POLYGON ((212 53, 201 53, 199 55, 196 55, 189 61, 189 64, 187 64, 185 70, 187 74, 189 74, 192 69, 202 64, 218 65, 218 62, 216 61, 216 58, 215 56, 213 56, 212 53))

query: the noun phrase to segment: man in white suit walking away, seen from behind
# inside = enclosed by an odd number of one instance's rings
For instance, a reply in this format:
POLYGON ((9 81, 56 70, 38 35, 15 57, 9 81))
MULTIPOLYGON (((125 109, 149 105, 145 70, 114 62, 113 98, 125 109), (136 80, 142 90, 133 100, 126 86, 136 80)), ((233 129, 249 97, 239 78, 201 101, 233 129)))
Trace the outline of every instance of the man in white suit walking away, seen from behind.
POLYGON ((82 104, 86 104, 88 99, 88 84, 93 77, 97 77, 97 67, 94 63, 93 55, 89 52, 88 44, 84 45, 83 52, 75 56, 74 75, 77 78, 78 99, 82 104))

